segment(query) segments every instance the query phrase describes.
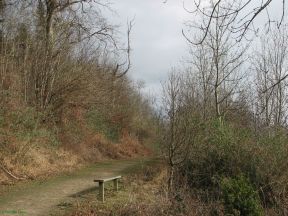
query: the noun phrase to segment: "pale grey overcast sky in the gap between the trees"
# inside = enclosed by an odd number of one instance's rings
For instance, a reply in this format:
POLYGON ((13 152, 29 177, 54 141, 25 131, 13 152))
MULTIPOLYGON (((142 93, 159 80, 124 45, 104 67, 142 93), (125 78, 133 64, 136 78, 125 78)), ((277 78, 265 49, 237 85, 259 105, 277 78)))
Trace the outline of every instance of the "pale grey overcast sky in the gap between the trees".
MULTIPOLYGON (((193 17, 183 9, 181 0, 169 0, 167 3, 163 3, 164 0, 110 0, 110 2, 118 13, 110 17, 115 24, 125 27, 127 20, 135 16, 131 38, 133 51, 130 77, 145 82, 144 92, 159 95, 161 81, 167 78, 172 67, 179 66, 183 57, 187 56, 187 42, 181 30, 184 21, 193 17)), ((275 4, 270 7, 271 16, 281 14, 279 13, 281 2, 281 0, 273 2, 275 4)), ((251 8, 254 6, 251 5, 251 8)), ((260 17, 256 23, 263 24, 264 20, 267 21, 266 18, 260 17)))

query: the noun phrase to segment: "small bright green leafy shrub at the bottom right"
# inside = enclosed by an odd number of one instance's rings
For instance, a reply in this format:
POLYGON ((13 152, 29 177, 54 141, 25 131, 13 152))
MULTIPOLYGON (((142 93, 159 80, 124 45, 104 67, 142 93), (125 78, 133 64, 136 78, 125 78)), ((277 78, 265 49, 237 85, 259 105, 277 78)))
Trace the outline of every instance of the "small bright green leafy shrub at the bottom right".
POLYGON ((259 195, 249 180, 243 175, 236 178, 223 178, 221 191, 226 214, 263 215, 259 195))

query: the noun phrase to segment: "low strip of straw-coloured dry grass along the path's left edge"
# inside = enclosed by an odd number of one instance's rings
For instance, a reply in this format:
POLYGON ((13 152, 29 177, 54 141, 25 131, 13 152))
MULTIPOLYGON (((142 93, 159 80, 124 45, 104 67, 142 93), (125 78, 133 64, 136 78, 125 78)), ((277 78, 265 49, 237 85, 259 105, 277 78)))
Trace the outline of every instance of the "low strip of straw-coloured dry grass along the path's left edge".
MULTIPOLYGON (((123 138, 114 144, 102 135, 87 137, 81 143, 78 151, 57 148, 51 149, 43 145, 34 145, 25 156, 16 158, 11 155, 3 157, 3 164, 13 174, 19 177, 35 179, 48 177, 57 173, 71 171, 84 164, 106 159, 125 159, 148 155, 150 152, 136 140, 123 138)), ((18 143, 18 147, 20 143, 18 143)), ((0 184, 10 184, 14 180, 4 172, 0 172, 0 184)))

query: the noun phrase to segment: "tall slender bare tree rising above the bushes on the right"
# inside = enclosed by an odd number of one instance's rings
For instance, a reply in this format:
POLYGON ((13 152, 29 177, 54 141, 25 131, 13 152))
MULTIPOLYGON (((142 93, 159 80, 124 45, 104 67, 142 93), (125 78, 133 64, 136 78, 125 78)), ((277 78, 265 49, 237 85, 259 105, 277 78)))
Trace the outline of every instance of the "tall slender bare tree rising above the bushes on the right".
MULTIPOLYGON (((240 81, 244 74, 240 68, 245 58, 244 54, 248 46, 241 46, 237 41, 231 39, 229 30, 231 20, 225 15, 229 10, 220 6, 215 8, 217 19, 213 19, 209 25, 205 41, 199 45, 191 42, 192 63, 196 73, 201 77, 201 85, 205 93, 205 103, 210 91, 213 92, 215 116, 222 121, 223 116, 229 110, 229 101, 237 93, 240 81), (200 48, 197 48, 200 46, 200 48)), ((203 23, 206 17, 203 17, 203 23)), ((191 27, 191 26, 190 26, 191 27)), ((200 31, 204 31, 199 28, 200 31)))

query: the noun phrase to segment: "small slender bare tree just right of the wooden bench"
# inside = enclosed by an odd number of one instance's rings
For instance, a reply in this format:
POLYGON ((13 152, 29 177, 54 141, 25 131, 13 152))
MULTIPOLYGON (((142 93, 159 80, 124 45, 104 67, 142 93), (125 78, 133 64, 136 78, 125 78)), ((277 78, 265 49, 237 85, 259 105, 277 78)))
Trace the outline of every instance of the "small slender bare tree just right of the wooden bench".
POLYGON ((181 75, 174 71, 163 86, 164 113, 167 118, 164 142, 167 147, 170 193, 174 190, 175 169, 183 165, 189 154, 189 141, 192 136, 189 131, 189 110, 185 107, 183 90, 181 75))

